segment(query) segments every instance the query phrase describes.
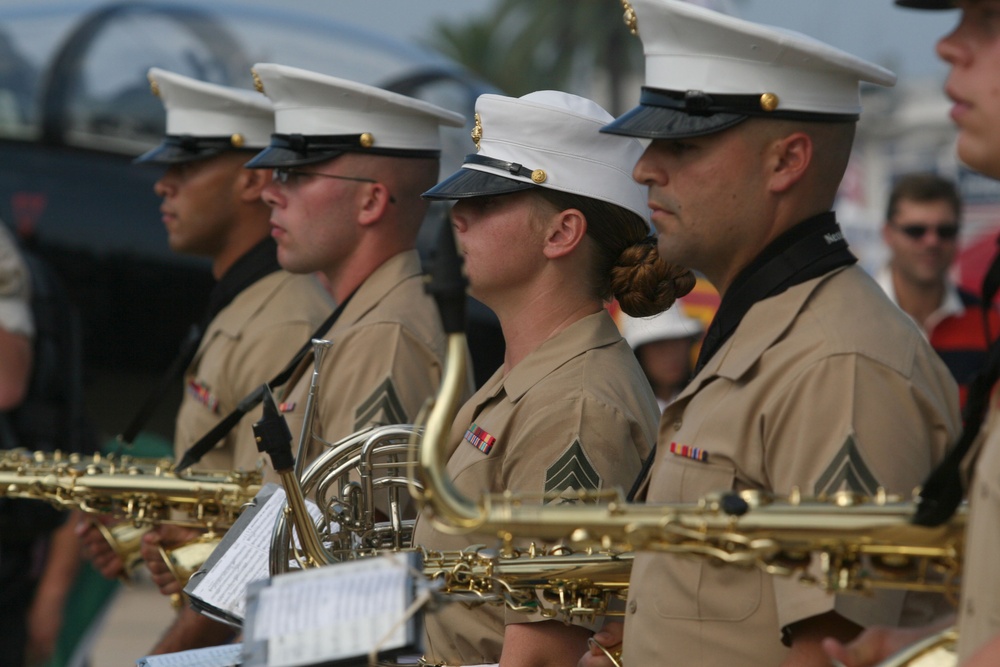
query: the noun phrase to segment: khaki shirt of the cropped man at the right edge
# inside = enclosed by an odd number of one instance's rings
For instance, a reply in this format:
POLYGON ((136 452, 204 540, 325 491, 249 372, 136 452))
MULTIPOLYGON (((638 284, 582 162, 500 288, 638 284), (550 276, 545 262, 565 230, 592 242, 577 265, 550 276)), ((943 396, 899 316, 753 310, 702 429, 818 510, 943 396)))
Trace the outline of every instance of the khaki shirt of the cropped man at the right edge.
POLYGON ((959 664, 1000 632, 1000 568, 996 564, 1000 553, 1000 393, 995 388, 979 440, 971 452, 976 463, 962 570, 959 664))

